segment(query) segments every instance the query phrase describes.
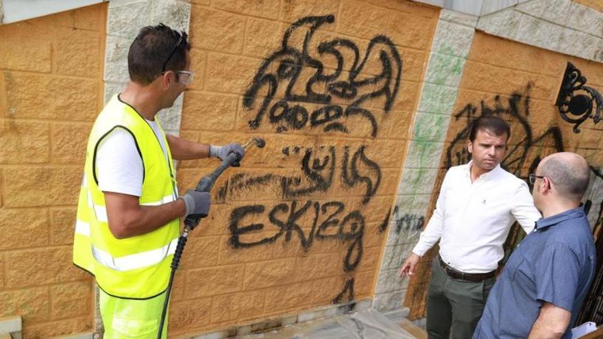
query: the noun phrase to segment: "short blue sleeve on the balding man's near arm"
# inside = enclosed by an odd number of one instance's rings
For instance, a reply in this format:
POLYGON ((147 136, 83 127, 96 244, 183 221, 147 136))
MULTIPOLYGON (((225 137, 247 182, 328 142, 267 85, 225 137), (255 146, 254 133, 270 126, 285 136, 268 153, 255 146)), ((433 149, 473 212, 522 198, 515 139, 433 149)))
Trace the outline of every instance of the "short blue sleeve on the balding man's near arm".
POLYGON ((534 262, 536 299, 571 312, 576 299, 580 265, 576 253, 567 244, 548 244, 534 262))

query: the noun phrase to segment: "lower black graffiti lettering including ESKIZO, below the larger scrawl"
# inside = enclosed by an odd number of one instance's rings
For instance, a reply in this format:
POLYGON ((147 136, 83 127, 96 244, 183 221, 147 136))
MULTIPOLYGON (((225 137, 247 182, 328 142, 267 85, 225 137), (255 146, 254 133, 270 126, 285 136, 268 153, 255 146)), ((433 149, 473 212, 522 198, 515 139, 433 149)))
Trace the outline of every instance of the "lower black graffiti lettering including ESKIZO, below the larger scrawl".
MULTIPOLYGON (((223 186, 218 188, 216 198, 225 201, 229 195, 241 190, 251 190, 271 183, 280 183, 283 199, 310 196, 315 192, 325 192, 334 184, 336 168, 341 169, 341 185, 344 188, 362 186, 365 193, 362 204, 367 204, 376 194, 381 183, 380 166, 370 160, 365 154, 366 146, 362 145, 352 152, 350 147, 344 147, 343 156, 338 160, 336 149, 330 147, 284 147, 286 157, 301 156, 300 167, 302 175, 297 177, 265 174, 250 176, 246 173, 233 175, 223 186)), ((230 245, 234 249, 256 247, 271 244, 282 238, 291 242, 295 238, 305 251, 308 251, 315 241, 336 240, 347 243, 347 251, 343 259, 343 273, 353 273, 362 260, 362 238, 365 233, 365 217, 358 210, 343 215, 345 205, 340 201, 319 203, 317 201, 291 201, 278 203, 269 211, 264 205, 247 205, 235 208, 230 214, 230 245), (312 214, 313 223, 310 231, 304 232, 299 225, 302 217, 312 214), (264 229, 263 223, 241 225, 247 216, 267 216, 269 223, 278 231, 260 240, 247 241, 245 235, 264 229)), ((304 219, 307 220, 307 219, 304 219)), ((354 278, 347 279, 339 297, 333 302, 339 303, 347 294, 348 301, 354 299, 354 278)))

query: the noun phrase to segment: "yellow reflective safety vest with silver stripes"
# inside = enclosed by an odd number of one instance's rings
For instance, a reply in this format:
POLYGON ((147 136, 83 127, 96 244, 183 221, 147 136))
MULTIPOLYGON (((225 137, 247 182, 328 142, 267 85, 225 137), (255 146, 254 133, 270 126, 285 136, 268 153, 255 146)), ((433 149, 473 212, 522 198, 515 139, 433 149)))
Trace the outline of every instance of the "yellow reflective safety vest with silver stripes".
MULTIPOLYGON (((147 299, 167 288, 180 220, 142 236, 117 239, 108 227, 105 197, 99 190, 95 158, 99 143, 116 128, 130 132, 143 159, 140 205, 160 205, 177 199, 174 169, 166 160, 153 129, 132 106, 113 97, 99 114, 88 140, 84 179, 77 204, 73 263, 96 277, 114 297, 147 299)), ((164 145, 168 145, 165 140, 164 145)), ((171 159, 169 147, 168 158, 171 159)))

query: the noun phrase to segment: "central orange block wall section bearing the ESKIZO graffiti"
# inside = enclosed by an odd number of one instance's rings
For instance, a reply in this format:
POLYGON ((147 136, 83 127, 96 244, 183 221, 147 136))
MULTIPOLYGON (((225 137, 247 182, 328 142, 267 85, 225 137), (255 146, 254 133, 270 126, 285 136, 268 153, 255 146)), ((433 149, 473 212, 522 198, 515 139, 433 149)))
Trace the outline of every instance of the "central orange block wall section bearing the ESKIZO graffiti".
MULTIPOLYGON (((261 136, 267 145, 214 187, 175 279, 170 333, 371 297, 439 10, 380 0, 192 3, 197 75, 181 136, 214 144, 261 136), (363 84, 349 77, 352 46, 363 84)), ((181 191, 217 164, 181 162, 181 191)))

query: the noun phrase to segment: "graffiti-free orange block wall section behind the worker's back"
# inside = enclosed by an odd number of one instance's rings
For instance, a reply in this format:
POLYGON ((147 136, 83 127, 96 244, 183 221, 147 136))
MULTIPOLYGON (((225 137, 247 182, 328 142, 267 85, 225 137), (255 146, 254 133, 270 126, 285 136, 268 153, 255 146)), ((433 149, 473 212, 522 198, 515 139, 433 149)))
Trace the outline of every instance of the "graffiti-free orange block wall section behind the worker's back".
POLYGON ((21 316, 23 338, 93 327, 71 244, 105 22, 102 4, 0 25, 0 317, 21 316))

